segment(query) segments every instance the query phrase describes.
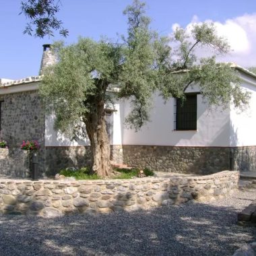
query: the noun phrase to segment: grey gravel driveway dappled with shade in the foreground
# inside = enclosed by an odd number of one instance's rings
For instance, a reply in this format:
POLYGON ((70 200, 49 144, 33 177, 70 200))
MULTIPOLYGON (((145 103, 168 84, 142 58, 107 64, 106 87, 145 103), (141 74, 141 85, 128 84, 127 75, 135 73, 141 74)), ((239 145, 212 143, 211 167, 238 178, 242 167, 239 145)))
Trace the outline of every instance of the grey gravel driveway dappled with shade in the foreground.
POLYGON ((165 206, 149 212, 65 216, 0 215, 0 255, 232 255, 255 240, 256 228, 236 214, 256 189, 212 203, 165 206))

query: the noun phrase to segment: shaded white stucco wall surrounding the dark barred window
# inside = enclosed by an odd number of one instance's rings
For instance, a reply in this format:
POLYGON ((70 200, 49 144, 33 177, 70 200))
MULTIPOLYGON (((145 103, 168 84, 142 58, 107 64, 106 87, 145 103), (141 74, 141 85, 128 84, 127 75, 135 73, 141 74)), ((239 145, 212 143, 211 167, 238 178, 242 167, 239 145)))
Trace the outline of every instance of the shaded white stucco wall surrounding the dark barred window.
MULTIPOLYGON (((151 122, 135 133, 122 125, 125 145, 156 146, 229 146, 229 110, 207 108, 202 96, 197 95, 197 131, 174 131, 174 98, 164 104, 154 96, 151 122)), ((129 113, 128 102, 121 104, 121 121, 129 113)))

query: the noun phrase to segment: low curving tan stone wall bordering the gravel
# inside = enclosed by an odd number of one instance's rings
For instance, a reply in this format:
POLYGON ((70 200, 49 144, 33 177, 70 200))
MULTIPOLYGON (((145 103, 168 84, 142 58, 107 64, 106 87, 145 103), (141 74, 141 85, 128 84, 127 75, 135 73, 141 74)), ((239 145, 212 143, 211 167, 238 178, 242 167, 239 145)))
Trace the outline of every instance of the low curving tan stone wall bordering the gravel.
POLYGON ((136 178, 96 181, 0 180, 0 212, 44 217, 108 213, 223 197, 238 187, 239 173, 203 177, 136 178))

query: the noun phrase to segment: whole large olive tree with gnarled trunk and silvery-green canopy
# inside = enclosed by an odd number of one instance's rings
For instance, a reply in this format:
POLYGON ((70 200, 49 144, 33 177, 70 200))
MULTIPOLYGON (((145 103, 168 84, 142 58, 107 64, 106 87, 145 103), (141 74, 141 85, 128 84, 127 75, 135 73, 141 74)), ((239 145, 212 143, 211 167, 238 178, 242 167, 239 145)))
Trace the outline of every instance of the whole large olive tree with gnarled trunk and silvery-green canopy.
POLYGON ((235 106, 243 106, 249 100, 230 65, 216 63, 215 56, 198 58, 195 54, 201 46, 228 52, 228 44, 212 24, 197 24, 190 34, 177 29, 172 38, 177 47, 171 49, 168 38, 150 29, 144 6, 135 0, 125 9, 128 30, 121 44, 90 38, 79 38, 69 46, 56 43, 53 49, 59 61, 49 67, 40 86, 46 106, 56 115, 55 129, 75 135, 86 127, 92 171, 101 177, 111 172, 104 115, 113 100, 129 100, 131 112, 125 123, 135 130, 149 121, 155 92, 164 100, 185 100, 187 88, 197 84, 210 105, 225 107, 232 100, 235 106), (110 94, 111 86, 119 92, 110 94))

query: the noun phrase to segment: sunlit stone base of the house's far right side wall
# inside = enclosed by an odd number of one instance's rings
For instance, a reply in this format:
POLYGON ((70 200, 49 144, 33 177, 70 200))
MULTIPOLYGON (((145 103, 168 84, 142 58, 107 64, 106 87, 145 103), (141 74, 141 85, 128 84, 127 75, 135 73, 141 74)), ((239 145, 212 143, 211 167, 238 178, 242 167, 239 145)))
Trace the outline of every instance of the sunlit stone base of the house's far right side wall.
POLYGON ((234 170, 256 172, 256 146, 232 148, 234 170))

